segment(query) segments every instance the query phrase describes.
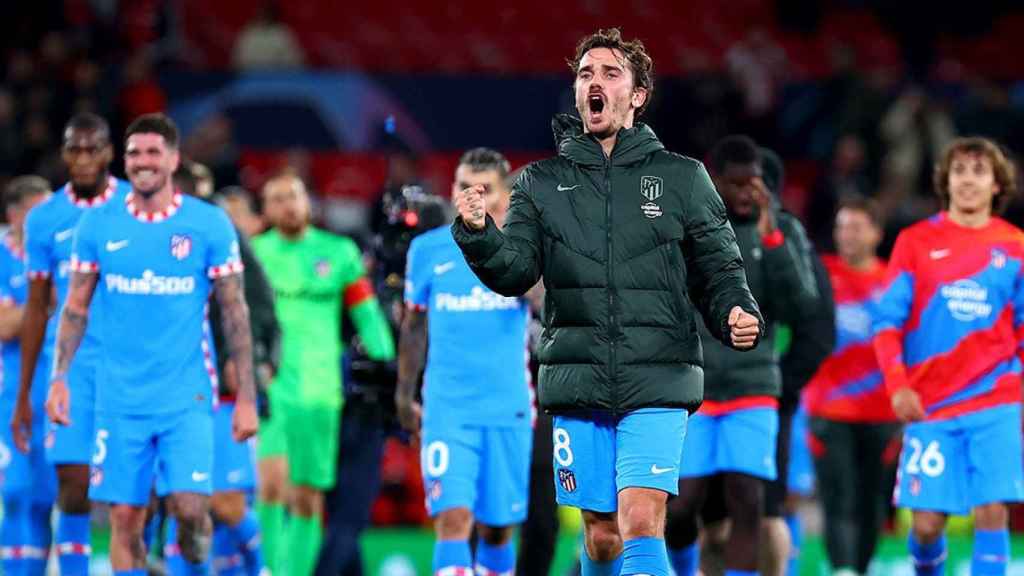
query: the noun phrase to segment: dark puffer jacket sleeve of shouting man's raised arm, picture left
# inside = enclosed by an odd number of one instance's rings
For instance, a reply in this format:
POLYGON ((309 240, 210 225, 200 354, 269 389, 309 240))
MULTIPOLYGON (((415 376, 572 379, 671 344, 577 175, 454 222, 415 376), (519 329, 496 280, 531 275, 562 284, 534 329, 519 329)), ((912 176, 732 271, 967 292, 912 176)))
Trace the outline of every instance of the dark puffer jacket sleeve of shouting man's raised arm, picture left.
POLYGON ((462 217, 452 223, 452 234, 477 278, 503 296, 522 296, 541 278, 541 218, 530 197, 532 170, 527 167, 512 186, 505 228, 498 230, 490 216, 481 231, 466 228, 462 217))

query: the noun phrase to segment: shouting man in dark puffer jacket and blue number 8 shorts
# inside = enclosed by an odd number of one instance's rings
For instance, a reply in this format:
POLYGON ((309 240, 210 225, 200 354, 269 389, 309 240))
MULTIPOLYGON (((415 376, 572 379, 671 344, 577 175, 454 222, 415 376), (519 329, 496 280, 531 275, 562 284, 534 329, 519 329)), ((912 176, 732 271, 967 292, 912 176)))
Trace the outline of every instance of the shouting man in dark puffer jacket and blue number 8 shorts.
POLYGON ((708 172, 634 122, 653 87, 643 45, 599 31, 570 68, 583 122, 555 119, 558 156, 523 171, 502 231, 474 187, 453 233, 495 292, 544 279, 540 401, 558 501, 583 509, 584 573, 667 576, 665 503, 703 397, 698 326, 745 349, 763 322, 708 172))

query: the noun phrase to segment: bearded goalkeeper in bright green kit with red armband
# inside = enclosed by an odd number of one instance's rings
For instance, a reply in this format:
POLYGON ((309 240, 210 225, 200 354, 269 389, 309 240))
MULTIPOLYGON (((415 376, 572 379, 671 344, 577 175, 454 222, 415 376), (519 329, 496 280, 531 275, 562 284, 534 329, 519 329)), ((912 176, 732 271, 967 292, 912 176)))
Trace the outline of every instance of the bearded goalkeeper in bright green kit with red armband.
POLYGON ((392 360, 394 341, 358 247, 309 224, 302 180, 291 174, 270 179, 263 206, 272 229, 252 247, 273 287, 282 359, 269 388, 270 418, 259 435, 258 509, 266 566, 274 574, 307 576, 321 547, 323 492, 337 469, 341 315, 348 313, 372 360, 392 360), (281 505, 286 479, 287 521, 281 505))

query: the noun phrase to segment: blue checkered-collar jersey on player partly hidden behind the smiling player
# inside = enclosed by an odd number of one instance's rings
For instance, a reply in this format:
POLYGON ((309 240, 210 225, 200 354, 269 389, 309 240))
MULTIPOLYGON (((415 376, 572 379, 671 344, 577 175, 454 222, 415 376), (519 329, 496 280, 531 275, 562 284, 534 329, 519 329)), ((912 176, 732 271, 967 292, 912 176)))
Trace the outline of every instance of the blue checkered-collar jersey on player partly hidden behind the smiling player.
MULTIPOLYGON (((131 190, 131 184, 113 176, 108 179, 106 189, 91 199, 75 197, 71 184, 65 184, 57 193, 33 208, 25 220, 25 251, 30 279, 49 278, 57 293, 57 310, 63 306, 71 280, 72 237, 79 219, 86 211, 121 199, 131 190)), ((92 313, 90 308, 90 313, 92 313)), ((59 314, 50 317, 46 328, 46 343, 52 345, 56 339, 59 314)), ((94 363, 99 354, 96 328, 85 332, 76 363, 94 363)))

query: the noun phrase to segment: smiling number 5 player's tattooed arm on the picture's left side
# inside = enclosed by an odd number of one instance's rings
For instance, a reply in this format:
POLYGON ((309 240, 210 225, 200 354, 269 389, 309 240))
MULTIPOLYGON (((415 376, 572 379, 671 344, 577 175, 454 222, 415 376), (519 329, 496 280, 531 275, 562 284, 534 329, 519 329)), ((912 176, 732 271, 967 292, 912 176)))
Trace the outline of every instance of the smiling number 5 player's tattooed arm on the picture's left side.
POLYGON ((58 424, 70 424, 71 393, 68 390, 68 369, 85 335, 89 319, 89 302, 96 289, 95 272, 73 272, 68 298, 57 327, 57 345, 53 354, 53 375, 46 399, 46 412, 58 424))

